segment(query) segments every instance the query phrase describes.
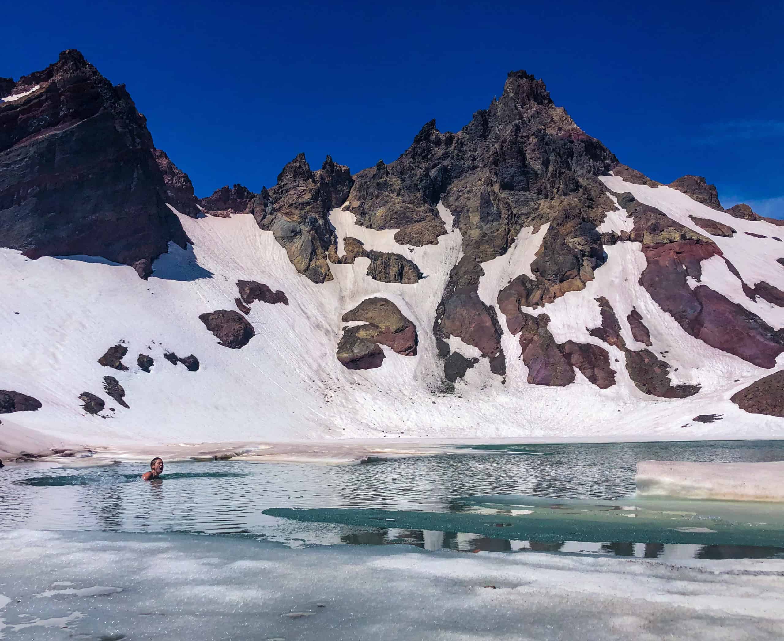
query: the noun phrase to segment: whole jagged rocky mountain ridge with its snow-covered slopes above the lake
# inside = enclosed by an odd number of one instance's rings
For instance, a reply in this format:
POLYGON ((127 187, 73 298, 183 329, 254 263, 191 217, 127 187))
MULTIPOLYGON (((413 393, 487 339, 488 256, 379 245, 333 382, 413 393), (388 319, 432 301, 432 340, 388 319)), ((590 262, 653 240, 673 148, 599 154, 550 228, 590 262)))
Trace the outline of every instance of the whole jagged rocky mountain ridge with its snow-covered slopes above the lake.
POLYGON ((390 162, 201 199, 78 52, 5 91, 0 381, 40 409, 4 439, 784 433, 782 221, 622 165, 524 71, 390 162))

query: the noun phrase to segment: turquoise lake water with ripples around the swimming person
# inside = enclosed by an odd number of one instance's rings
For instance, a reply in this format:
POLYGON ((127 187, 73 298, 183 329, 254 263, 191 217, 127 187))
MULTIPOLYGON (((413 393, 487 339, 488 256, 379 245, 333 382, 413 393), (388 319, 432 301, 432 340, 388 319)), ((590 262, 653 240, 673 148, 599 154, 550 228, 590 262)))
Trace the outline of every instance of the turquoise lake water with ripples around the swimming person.
POLYGON ((634 500, 637 461, 777 461, 784 442, 482 445, 356 466, 244 461, 0 470, 0 529, 178 531, 710 558, 784 554, 777 504, 634 500))

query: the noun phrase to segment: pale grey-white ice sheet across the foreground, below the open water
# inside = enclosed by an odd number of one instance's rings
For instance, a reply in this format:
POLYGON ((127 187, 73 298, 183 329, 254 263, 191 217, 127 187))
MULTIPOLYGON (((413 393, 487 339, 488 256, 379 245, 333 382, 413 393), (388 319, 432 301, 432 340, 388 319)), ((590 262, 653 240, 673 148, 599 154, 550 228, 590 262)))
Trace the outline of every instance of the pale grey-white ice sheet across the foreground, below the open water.
POLYGON ((780 639, 784 562, 0 534, 8 639, 780 639), (495 586, 495 589, 485 586, 495 586), (120 635, 125 635, 121 637, 120 635))

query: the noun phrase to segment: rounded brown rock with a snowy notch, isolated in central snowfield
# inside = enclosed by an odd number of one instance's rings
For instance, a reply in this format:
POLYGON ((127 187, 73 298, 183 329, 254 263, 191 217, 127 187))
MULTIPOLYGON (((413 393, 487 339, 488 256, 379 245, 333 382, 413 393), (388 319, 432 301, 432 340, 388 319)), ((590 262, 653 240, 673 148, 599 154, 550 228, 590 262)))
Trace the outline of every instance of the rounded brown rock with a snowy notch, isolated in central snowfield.
POLYGON ((342 320, 366 323, 343 330, 337 357, 349 370, 380 367, 384 354, 379 345, 387 345, 397 354, 416 355, 419 341, 416 325, 401 314, 397 305, 386 298, 367 298, 343 314, 342 320))

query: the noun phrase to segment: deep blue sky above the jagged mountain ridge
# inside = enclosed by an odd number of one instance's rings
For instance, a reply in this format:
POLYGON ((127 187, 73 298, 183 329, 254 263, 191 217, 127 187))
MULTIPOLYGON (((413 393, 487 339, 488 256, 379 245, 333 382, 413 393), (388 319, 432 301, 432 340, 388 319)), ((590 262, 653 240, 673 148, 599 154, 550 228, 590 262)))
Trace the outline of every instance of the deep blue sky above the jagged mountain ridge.
POLYGON ((543 78, 621 162, 784 217, 784 3, 5 3, 0 76, 76 48, 125 82, 197 195, 304 151, 358 171, 543 78))

